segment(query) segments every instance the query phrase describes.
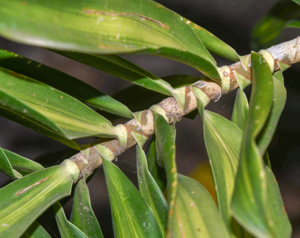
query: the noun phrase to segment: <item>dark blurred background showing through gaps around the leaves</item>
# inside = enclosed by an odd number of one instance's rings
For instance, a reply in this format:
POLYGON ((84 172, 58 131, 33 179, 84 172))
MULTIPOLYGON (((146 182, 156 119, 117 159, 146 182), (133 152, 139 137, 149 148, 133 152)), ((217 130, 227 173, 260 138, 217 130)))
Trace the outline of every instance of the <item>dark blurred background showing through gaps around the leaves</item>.
MULTIPOLYGON (((250 33, 254 24, 277 1, 275 0, 160 0, 164 6, 193 21, 212 32, 218 38, 232 46, 238 54, 250 53, 250 33)), ((300 36, 300 30, 288 29, 281 41, 288 41, 300 36)), ((95 88, 113 95, 131 83, 113 77, 102 71, 82 65, 78 62, 59 56, 39 47, 17 44, 0 38, 0 48, 28 57, 45 65, 57 68, 70 74, 95 88)), ((201 75, 197 70, 179 62, 156 56, 124 55, 140 67, 158 77, 173 74, 201 75)), ((230 65, 232 62, 215 56, 218 66, 230 65)), ((284 73, 287 89, 287 102, 282 113, 277 132, 269 146, 269 155, 273 172, 277 178, 283 202, 293 226, 293 238, 300 238, 300 65, 293 65, 284 73)), ((245 89, 250 95, 250 87, 245 89)), ((206 109, 231 118, 236 91, 223 95, 219 101, 211 102, 206 109)), ((129 98, 130 99, 130 98, 129 98)), ((124 98, 128 100, 128 98, 124 98)), ((153 104, 159 101, 153 101, 153 104)), ((147 109, 141 108, 140 110, 147 109)), ((114 125, 126 122, 126 119, 114 121, 114 125)), ((178 172, 191 174, 195 167, 208 162, 199 115, 194 120, 184 118, 176 124, 176 160, 178 172), (199 165, 200 164, 200 165, 199 165)), ((24 157, 36 157, 65 146, 35 131, 11 122, 0 116, 0 146, 24 157)), ((80 140, 81 143, 89 139, 80 140)), ((61 152, 60 158, 67 152, 61 152)), ((54 155, 50 154, 50 157, 54 155)), ((57 155, 55 155, 57 156, 57 155)), ((50 158, 49 156, 46 158, 50 158)), ((60 159, 60 158, 57 158, 60 159)), ((137 185, 135 147, 118 156, 116 164, 137 185)), ((0 174, 0 184, 8 177, 0 174)), ((99 168, 90 182, 91 204, 99 220, 104 237, 113 237, 110 206, 105 184, 103 168, 99 168)), ((70 216, 71 197, 64 199, 64 210, 70 216), (67 201, 69 200, 69 201, 67 201)), ((52 237, 59 237, 55 218, 50 208, 39 218, 39 222, 48 230, 52 237)))

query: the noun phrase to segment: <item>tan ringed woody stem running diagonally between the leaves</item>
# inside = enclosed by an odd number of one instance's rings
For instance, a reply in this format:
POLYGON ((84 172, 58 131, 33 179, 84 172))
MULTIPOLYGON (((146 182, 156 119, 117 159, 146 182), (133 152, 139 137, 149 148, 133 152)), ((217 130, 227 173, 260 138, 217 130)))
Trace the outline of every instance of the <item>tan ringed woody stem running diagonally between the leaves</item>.
MULTIPOLYGON (((280 69, 281 64, 290 66, 291 64, 300 61, 300 50, 298 51, 298 46, 300 44, 299 39, 300 38, 297 37, 294 40, 272 46, 267 50, 261 50, 259 52, 265 57, 270 67, 272 67, 271 71, 280 69)), ((223 73, 225 77, 230 79, 229 91, 238 87, 244 89, 244 87, 248 86, 252 82, 250 57, 244 57, 244 59, 247 60, 243 61, 243 65, 241 64, 241 61, 239 61, 233 65, 219 68, 220 74, 223 73), (245 65, 248 67, 245 67, 245 65)), ((201 99, 204 106, 206 106, 210 101, 219 99, 221 94, 225 93, 227 92, 222 91, 221 87, 217 83, 207 77, 203 77, 202 80, 199 80, 185 88, 184 108, 180 108, 173 97, 166 98, 160 103, 152 106, 150 108, 151 110, 144 110, 141 116, 141 122, 138 122, 136 119, 132 119, 125 123, 124 125, 128 132, 126 146, 120 146, 118 140, 115 139, 103 143, 94 143, 91 145, 89 150, 88 164, 86 162, 87 160, 80 152, 70 159, 74 161, 82 171, 81 176, 82 173, 91 173, 93 170, 101 166, 101 156, 113 160, 117 155, 120 155, 126 149, 137 143, 133 137, 133 133, 131 132, 136 132, 144 137, 149 137, 154 134, 152 111, 156 111, 162 114, 166 119, 169 119, 170 124, 176 123, 179 122, 184 115, 197 108, 196 97, 201 99)))

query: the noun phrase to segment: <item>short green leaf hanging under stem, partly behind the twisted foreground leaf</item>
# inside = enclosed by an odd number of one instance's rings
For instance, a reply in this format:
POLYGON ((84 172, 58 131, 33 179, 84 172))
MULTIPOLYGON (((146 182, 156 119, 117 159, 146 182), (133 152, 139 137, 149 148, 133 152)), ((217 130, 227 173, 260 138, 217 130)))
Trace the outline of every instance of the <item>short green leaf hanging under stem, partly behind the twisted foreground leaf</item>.
POLYGON ((249 104, 245 93, 238 88, 236 91, 231 121, 244 131, 249 104))

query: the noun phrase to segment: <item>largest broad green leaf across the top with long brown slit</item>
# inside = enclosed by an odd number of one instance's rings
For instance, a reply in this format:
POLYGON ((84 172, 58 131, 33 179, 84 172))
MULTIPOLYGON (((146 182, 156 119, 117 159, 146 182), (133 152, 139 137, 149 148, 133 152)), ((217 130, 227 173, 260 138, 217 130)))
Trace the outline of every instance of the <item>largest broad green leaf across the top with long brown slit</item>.
POLYGON ((187 22, 156 2, 1 1, 0 34, 11 40, 57 50, 159 55, 220 80, 216 62, 187 22))

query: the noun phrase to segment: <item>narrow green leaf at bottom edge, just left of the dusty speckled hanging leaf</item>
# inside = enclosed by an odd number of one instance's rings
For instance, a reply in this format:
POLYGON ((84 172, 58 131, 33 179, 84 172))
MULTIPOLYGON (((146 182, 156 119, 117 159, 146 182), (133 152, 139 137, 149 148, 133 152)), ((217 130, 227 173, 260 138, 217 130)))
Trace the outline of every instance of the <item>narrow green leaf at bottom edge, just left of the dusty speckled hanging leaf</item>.
POLYGON ((89 238, 79 228, 67 220, 64 215, 64 210, 59 202, 53 204, 53 209, 61 238, 89 238))

